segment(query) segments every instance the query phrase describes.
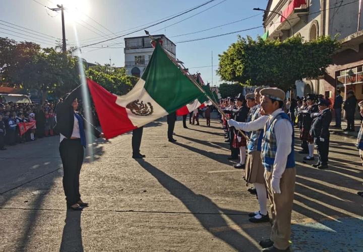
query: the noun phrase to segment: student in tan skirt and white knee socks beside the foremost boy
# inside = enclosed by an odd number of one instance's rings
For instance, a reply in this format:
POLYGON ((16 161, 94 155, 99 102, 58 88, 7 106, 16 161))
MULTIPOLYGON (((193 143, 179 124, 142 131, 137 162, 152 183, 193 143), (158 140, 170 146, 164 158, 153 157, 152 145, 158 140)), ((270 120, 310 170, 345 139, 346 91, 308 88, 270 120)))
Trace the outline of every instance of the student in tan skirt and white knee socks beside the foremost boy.
MULTIPOLYGON (((257 101, 258 105, 251 108, 253 115, 250 122, 236 123, 233 120, 228 121, 228 123, 233 125, 236 129, 251 132, 249 136, 250 140, 247 145, 248 154, 244 178, 247 182, 254 184, 258 197, 260 210, 249 213, 249 216, 251 217, 249 220, 254 223, 270 221, 267 212, 267 192, 264 177, 265 168, 261 160, 262 138, 268 116, 264 115, 263 111, 261 111, 261 90, 262 88, 257 88, 255 90, 255 101, 257 101)), ((252 190, 253 189, 249 188, 250 192, 252 192, 252 190)))

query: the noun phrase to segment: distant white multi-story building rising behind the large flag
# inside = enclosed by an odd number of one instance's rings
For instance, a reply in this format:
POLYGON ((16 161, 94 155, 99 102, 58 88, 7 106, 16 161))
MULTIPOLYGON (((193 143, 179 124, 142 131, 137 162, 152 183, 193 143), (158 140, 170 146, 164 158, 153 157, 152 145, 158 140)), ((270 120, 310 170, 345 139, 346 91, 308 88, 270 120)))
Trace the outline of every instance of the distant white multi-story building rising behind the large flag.
MULTIPOLYGON (((162 46, 175 58, 176 45, 165 35, 155 35, 161 39, 162 46)), ((149 59, 154 51, 149 36, 125 38, 125 69, 129 75, 140 77, 148 65, 149 59)))

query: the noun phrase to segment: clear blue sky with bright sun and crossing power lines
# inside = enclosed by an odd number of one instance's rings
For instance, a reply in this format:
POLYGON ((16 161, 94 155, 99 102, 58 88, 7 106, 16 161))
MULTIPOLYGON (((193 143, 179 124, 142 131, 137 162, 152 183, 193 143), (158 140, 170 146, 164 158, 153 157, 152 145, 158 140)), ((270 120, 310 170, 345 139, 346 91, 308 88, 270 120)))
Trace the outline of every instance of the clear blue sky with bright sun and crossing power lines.
MULTIPOLYGON (((89 42, 98 42, 107 38, 115 37, 111 32, 121 35, 120 31, 128 30, 137 26, 152 23, 153 21, 163 19, 165 17, 183 12, 191 9, 207 0, 185 0, 185 1, 161 1, 161 0, 1 0, 0 1, 0 20, 10 22, 36 32, 41 32, 55 38, 62 38, 61 14, 56 15, 55 12, 46 10, 43 6, 55 8, 56 4, 64 3, 65 7, 71 6, 73 10, 65 12, 66 19, 66 37, 67 43, 75 44, 76 37, 73 29, 75 20, 78 37, 81 44, 89 44, 89 42), (40 4, 39 4, 40 3, 40 4), (76 7, 75 7, 76 6, 76 7), (77 9, 74 9, 77 8, 77 9), (83 15, 81 12, 87 16, 83 15), (55 17, 54 17, 55 16, 55 17), (90 19, 91 17, 92 19, 90 19), (96 21, 96 22, 95 22, 96 21), (102 25, 102 26, 100 26, 102 25), (87 27, 87 28, 85 28, 87 27), (107 28, 107 29, 105 29, 107 28), (110 32, 111 31, 111 32, 110 32), (106 36, 107 34, 108 36, 106 36), (111 34, 111 35, 109 35, 111 34), (101 35, 103 37, 101 37, 101 35), (92 39, 93 38, 93 39, 92 39), (88 39, 88 40, 87 40, 88 39)), ((262 25, 262 12, 253 11, 253 8, 266 8, 267 0, 216 0, 204 7, 194 10, 188 14, 172 19, 157 26, 148 28, 151 34, 165 34, 174 43, 183 40, 195 39, 223 34, 262 25), (221 3, 222 2, 222 3, 221 3), (218 4, 220 3, 220 4, 218 4), (218 5, 216 5, 218 4, 218 5), (215 7, 212 7, 216 5, 215 7), (209 10, 208 8, 212 7, 209 10), (169 26, 177 21, 188 18, 206 10, 205 12, 191 17, 188 20, 178 24, 169 26), (219 27, 216 29, 198 32, 214 26, 223 25, 226 23, 234 22, 243 18, 251 17, 260 14, 256 17, 250 18, 245 21, 240 21, 231 25, 219 27), (159 30, 161 29, 161 30, 159 30), (157 31, 159 30, 159 31, 157 31), (198 32, 195 34, 173 37, 175 35, 186 34, 191 32, 198 32)), ((54 38, 35 33, 29 30, 20 31, 14 29, 13 25, 0 21, 0 36, 10 37, 15 40, 38 41, 42 47, 54 45, 54 38), (12 27, 7 27, 9 25, 12 27), (8 29, 8 30, 4 30, 8 29), (11 30, 11 31, 9 31, 11 30), (19 33, 23 33, 19 34, 19 33), (30 34, 32 32, 34 34, 30 34), (13 35, 9 35, 9 34, 13 35), (21 36, 24 38, 16 37, 21 36), (32 36, 32 37, 30 37, 32 36), (47 42, 43 41, 46 40, 47 42), (47 45, 46 43, 50 44, 47 45)), ((16 27, 18 29, 23 29, 16 27)), ((142 28, 142 26, 140 27, 142 28)), ((24 29, 23 29, 24 30, 24 29)), ((185 62, 185 66, 190 68, 190 72, 194 73, 199 71, 204 81, 212 81, 212 68, 195 68, 212 65, 212 51, 213 51, 213 65, 218 65, 218 54, 222 53, 228 48, 228 45, 235 42, 237 35, 246 36, 250 35, 256 37, 263 34, 263 28, 258 28, 246 32, 235 33, 231 35, 210 38, 200 41, 188 43, 176 43, 176 56, 178 59, 185 62)), ((144 32, 137 32, 132 36, 143 36, 144 32)), ((122 44, 112 46, 124 46, 124 39, 111 40, 102 44, 114 44, 122 42, 122 44)), ((94 47, 100 45, 94 45, 94 47)), ((117 67, 124 66, 124 49, 99 49, 99 48, 83 48, 82 56, 89 62, 98 62, 100 64, 108 63, 111 57, 111 62, 117 67)), ((219 77, 215 74, 213 67, 213 84, 220 84, 219 77)))

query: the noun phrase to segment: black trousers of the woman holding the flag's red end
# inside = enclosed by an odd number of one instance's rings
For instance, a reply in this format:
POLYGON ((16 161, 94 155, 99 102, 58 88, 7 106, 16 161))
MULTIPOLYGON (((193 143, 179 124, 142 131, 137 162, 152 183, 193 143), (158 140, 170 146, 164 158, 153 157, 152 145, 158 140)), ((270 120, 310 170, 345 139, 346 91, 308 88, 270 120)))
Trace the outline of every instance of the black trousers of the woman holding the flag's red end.
POLYGON ((64 171, 63 189, 67 206, 70 207, 81 200, 79 175, 83 164, 84 147, 80 139, 64 139, 59 145, 59 153, 64 171))

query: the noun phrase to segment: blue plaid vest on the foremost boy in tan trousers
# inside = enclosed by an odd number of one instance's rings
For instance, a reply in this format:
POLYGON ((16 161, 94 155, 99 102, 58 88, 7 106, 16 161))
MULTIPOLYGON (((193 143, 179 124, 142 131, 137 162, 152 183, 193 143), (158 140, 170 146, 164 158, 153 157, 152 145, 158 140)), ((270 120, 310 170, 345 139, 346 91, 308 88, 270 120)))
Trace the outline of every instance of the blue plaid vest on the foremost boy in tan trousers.
POLYGON ((291 141, 291 152, 287 156, 286 168, 295 167, 295 157, 294 157, 294 132, 293 126, 290 117, 286 113, 279 113, 276 117, 271 121, 268 129, 263 136, 262 140, 262 152, 261 159, 262 164, 264 165, 267 171, 271 171, 273 169, 273 164, 275 162, 277 143, 275 136, 275 123, 278 120, 287 119, 291 123, 292 127, 292 141, 291 141))

